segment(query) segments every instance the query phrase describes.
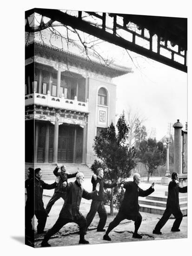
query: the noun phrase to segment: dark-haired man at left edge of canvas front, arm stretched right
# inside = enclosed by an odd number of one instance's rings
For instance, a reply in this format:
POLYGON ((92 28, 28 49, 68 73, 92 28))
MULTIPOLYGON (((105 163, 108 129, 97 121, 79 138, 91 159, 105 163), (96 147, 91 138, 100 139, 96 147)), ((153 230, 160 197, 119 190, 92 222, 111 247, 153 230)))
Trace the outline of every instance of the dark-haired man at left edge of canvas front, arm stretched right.
POLYGON ((46 225, 47 212, 43 204, 43 189, 55 189, 60 181, 57 177, 53 184, 47 184, 41 180, 42 171, 40 168, 35 169, 34 187, 35 187, 35 203, 34 214, 38 219, 37 233, 43 233, 46 225))

